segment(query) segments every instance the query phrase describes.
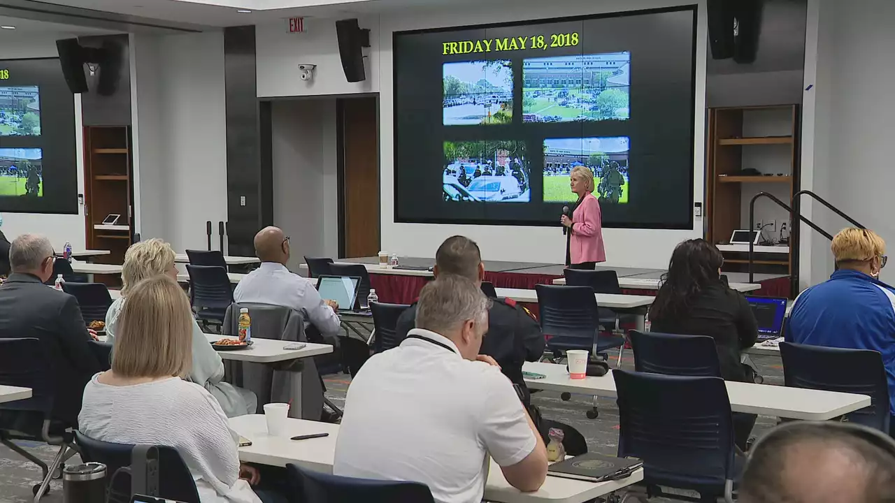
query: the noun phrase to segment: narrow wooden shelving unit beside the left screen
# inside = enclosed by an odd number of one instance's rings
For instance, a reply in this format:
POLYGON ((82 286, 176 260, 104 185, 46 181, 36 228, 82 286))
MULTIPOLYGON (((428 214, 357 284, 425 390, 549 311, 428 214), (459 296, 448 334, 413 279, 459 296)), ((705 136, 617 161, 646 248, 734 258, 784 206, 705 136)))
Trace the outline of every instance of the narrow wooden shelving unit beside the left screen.
MULTIPOLYGON (((128 126, 88 126, 84 128, 84 193, 87 248, 108 250, 98 262, 124 263, 124 252, 132 243, 132 152, 128 126), (117 225, 103 225, 109 214, 121 215, 117 225)), ((110 286, 121 284, 120 277, 96 275, 96 281, 110 286)))

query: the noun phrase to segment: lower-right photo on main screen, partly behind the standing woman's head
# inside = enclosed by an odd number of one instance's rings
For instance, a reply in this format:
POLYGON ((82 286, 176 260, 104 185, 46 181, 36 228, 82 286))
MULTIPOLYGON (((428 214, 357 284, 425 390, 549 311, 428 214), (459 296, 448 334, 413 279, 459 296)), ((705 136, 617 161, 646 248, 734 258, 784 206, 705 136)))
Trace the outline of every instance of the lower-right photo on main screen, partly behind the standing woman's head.
POLYGON ((575 202, 569 174, 584 166, 593 174, 593 195, 600 202, 626 203, 628 154, 626 136, 605 138, 548 138, 544 140, 544 202, 575 202))

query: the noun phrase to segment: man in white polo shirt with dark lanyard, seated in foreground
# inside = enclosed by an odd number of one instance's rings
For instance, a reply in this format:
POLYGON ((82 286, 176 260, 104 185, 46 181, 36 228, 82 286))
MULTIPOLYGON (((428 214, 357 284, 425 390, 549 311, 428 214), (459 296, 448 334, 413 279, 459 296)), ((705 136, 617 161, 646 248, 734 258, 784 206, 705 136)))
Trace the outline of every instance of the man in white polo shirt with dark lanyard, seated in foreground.
POLYGON ((541 435, 497 363, 479 355, 489 304, 465 277, 422 289, 417 328, 348 388, 333 473, 422 482, 439 503, 478 503, 490 455, 517 489, 541 487, 541 435))

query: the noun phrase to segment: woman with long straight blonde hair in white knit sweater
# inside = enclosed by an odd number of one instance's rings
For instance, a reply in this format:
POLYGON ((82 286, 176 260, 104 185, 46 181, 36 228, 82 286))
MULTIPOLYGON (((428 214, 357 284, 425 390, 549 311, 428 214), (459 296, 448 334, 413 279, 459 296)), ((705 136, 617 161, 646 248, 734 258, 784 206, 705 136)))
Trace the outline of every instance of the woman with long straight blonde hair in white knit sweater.
POLYGON ((118 320, 112 370, 84 388, 78 424, 91 439, 176 448, 202 503, 259 503, 240 465, 239 437, 205 388, 183 380, 192 358, 192 313, 180 286, 151 277, 132 286, 118 320), (244 477, 246 480, 243 480, 244 477))

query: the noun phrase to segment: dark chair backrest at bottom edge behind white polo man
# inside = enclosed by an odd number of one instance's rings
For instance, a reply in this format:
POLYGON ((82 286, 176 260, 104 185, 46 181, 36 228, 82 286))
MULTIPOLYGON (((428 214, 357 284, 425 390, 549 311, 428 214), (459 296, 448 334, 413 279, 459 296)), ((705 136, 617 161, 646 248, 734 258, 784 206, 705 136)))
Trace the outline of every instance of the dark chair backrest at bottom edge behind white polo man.
POLYGON ((420 482, 372 481, 340 477, 286 465, 286 479, 293 494, 305 503, 431 503, 429 487, 420 482))

